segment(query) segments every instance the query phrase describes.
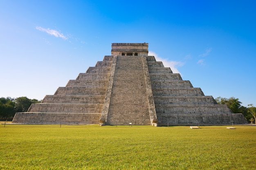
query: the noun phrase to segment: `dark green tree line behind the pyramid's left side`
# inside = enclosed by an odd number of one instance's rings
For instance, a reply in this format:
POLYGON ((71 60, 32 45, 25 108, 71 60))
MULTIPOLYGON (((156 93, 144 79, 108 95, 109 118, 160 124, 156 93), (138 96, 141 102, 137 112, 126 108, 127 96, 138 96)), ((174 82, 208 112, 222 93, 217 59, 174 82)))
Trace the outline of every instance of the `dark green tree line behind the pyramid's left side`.
POLYGON ((32 103, 40 103, 41 100, 27 97, 0 98, 0 120, 12 120, 16 112, 27 112, 32 103))

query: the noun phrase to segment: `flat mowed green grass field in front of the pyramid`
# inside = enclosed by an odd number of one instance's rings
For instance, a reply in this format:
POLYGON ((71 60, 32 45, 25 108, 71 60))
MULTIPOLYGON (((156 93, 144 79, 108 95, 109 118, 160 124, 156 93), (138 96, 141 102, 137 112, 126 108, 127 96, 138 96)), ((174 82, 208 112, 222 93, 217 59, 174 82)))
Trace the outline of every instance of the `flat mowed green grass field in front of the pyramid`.
POLYGON ((0 125, 0 169, 256 169, 256 126, 0 125))

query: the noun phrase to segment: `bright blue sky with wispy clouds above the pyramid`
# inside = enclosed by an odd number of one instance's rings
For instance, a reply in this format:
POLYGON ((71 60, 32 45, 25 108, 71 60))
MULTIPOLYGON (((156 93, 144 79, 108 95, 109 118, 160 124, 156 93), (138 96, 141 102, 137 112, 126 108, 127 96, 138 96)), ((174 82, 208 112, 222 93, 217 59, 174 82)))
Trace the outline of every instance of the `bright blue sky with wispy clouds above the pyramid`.
POLYGON ((0 97, 41 100, 111 54, 150 54, 204 95, 256 105, 256 1, 0 1, 0 97))

